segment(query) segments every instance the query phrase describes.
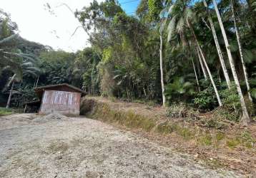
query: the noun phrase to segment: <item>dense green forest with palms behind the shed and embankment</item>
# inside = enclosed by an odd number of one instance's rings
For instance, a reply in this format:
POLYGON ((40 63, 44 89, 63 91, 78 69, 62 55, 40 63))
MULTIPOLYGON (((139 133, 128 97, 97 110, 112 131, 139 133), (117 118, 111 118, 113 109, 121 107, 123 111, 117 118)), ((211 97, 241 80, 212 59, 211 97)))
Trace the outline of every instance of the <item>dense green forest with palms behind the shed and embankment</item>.
POLYGON ((255 117, 255 0, 141 0, 134 16, 118 1, 93 1, 74 18, 91 46, 68 53, 26 41, 0 11, 1 106, 22 108, 36 86, 69 83, 90 95, 215 110, 243 125, 255 117))

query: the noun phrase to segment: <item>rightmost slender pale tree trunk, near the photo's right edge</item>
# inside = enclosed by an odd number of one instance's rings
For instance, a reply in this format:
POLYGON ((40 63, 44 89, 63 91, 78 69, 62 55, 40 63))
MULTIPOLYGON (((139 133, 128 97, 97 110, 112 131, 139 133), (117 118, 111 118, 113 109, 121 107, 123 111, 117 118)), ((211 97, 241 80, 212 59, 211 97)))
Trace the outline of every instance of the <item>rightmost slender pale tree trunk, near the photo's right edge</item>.
POLYGON ((245 83, 246 83, 248 98, 250 101, 252 101, 252 97, 250 95, 250 85, 249 85, 249 81, 248 81, 248 75, 247 75, 247 71, 246 71, 244 57, 242 55, 242 46, 241 46, 241 42, 240 42, 240 35, 239 35, 238 29, 237 29, 237 22, 235 21, 235 11, 234 11, 234 6, 233 6, 232 0, 230 0, 230 4, 231 4, 232 16, 233 16, 234 26, 235 26, 235 35, 237 36, 237 43, 238 43, 240 58, 241 58, 241 62, 242 62, 242 70, 244 71, 244 75, 245 75, 245 83))

